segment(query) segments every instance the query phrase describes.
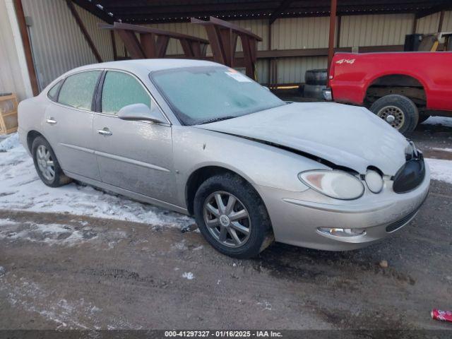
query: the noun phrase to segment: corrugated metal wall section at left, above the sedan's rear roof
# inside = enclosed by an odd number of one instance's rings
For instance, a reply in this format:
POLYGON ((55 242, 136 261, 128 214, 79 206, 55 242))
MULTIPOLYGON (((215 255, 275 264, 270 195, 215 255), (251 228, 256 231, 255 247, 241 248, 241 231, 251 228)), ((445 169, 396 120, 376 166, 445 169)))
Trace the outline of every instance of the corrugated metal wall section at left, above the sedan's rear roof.
MULTIPOLYGON (((29 33, 41 89, 70 69, 97 62, 66 1, 22 2, 25 16, 31 18, 29 33)), ((112 60, 109 32, 96 27, 101 20, 83 8, 76 8, 102 58, 105 58, 105 61, 112 60)))

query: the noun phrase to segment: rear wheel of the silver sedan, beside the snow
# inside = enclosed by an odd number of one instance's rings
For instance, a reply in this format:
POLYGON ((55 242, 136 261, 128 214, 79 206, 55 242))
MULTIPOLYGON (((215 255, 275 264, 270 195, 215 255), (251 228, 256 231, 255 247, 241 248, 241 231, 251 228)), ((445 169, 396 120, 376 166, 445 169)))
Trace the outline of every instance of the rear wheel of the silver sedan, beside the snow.
POLYGON ((31 149, 37 175, 39 175, 44 184, 50 187, 59 187, 69 184, 72 181, 71 178, 66 177, 59 165, 54 150, 52 150, 52 147, 42 136, 35 138, 31 149), (44 165, 46 159, 47 163, 44 165), (49 165, 48 162, 52 162, 53 165, 49 165), (53 170, 47 171, 46 169, 49 169, 49 167, 53 170))

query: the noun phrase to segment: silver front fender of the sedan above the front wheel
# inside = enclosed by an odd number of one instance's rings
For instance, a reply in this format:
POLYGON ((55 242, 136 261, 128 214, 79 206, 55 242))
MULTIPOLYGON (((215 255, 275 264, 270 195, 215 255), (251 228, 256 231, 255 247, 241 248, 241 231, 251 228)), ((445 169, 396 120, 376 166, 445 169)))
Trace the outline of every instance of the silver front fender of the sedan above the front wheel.
POLYGON ((299 172, 329 168, 271 145, 193 126, 173 126, 173 150, 181 206, 186 205, 184 192, 190 175, 201 167, 229 169, 258 192, 259 186, 306 191, 309 188, 299 181, 299 172))

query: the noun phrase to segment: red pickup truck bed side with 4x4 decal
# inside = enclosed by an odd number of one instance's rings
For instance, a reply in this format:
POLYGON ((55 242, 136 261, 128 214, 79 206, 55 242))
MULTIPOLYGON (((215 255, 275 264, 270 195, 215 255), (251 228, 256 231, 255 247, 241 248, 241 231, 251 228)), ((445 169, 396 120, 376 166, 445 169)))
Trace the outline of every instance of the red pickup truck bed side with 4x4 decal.
POLYGON ((333 100, 363 105, 367 89, 379 78, 408 76, 424 88, 427 109, 448 111, 444 115, 450 116, 451 64, 452 52, 336 53, 329 74, 333 100))

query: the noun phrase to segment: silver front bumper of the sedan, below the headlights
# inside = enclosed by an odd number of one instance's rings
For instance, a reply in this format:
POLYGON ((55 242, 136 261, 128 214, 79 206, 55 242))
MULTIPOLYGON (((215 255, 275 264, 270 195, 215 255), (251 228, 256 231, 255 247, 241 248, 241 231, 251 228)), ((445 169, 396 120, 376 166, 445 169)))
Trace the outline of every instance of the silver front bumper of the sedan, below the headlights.
POLYGON ((379 194, 366 188, 364 195, 355 201, 328 198, 312 189, 292 192, 259 186, 258 191, 266 203, 276 241, 345 251, 367 246, 407 225, 427 198, 429 184, 430 173, 426 165, 422 183, 404 194, 393 191, 391 180, 384 182, 379 194), (324 232, 332 228, 364 232, 350 237, 324 232))

